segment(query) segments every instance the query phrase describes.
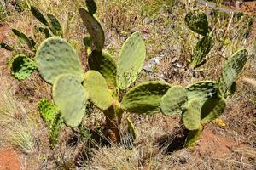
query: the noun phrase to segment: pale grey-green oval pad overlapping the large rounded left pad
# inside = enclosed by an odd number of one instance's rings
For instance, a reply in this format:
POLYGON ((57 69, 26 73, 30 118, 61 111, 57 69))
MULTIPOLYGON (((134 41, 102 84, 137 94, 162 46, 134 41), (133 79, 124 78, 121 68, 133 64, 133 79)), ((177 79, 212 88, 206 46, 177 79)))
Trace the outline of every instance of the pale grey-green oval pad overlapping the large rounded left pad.
POLYGON ((79 77, 62 74, 55 79, 53 99, 69 127, 78 127, 82 122, 87 104, 86 93, 79 77))

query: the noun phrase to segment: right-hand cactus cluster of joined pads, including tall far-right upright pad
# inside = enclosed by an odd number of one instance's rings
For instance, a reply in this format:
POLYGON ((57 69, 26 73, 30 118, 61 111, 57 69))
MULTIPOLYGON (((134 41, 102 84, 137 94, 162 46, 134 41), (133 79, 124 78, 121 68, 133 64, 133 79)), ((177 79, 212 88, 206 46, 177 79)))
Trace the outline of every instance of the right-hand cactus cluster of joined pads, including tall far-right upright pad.
POLYGON ((160 101, 163 114, 180 114, 189 130, 185 146, 193 146, 200 138, 203 126, 223 114, 229 90, 247 61, 247 50, 233 54, 224 65, 218 82, 195 82, 188 87, 172 86, 160 101), (174 112, 173 112, 174 111, 174 112))

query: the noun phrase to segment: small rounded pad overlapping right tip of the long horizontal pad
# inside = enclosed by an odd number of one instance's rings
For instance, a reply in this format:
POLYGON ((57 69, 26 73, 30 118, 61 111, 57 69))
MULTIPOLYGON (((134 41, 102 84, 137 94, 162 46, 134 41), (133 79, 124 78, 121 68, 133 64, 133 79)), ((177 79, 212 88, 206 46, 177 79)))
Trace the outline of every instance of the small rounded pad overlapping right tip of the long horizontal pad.
POLYGON ((160 100, 160 109, 166 116, 181 114, 183 105, 187 102, 186 90, 181 86, 172 86, 160 100))

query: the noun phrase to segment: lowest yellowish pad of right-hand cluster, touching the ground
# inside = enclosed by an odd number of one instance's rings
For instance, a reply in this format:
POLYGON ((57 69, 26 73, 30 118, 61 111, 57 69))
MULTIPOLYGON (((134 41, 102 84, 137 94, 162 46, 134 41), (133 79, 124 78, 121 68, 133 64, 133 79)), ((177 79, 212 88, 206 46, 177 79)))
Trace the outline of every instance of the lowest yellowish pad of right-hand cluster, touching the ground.
POLYGON ((189 148, 189 147, 193 147, 195 146, 195 144, 197 143, 197 141, 200 139, 201 137, 201 133, 203 131, 203 126, 199 127, 196 130, 192 130, 189 132, 188 137, 185 141, 185 147, 189 148))

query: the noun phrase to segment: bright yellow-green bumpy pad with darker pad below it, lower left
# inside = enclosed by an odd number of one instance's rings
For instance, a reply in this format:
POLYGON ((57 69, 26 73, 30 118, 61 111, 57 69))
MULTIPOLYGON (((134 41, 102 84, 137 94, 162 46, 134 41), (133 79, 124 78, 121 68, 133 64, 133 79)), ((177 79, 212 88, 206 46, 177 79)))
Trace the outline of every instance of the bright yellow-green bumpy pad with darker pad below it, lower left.
POLYGON ((54 148, 61 132, 63 122, 61 113, 48 99, 42 99, 38 102, 38 110, 49 128, 49 144, 51 148, 54 148))

